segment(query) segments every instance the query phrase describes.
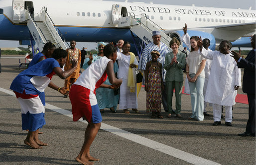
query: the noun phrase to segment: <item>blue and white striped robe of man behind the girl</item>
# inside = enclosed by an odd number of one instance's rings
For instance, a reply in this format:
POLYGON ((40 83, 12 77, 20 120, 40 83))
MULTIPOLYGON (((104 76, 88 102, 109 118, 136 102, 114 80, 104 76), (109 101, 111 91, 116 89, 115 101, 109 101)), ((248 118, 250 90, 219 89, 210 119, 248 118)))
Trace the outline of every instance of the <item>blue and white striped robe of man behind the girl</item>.
POLYGON ((148 61, 152 60, 150 52, 152 52, 154 50, 158 51, 160 53, 160 56, 157 60, 158 60, 158 62, 160 62, 162 64, 162 76, 163 76, 163 81, 164 81, 165 80, 165 74, 166 74, 166 70, 163 68, 164 60, 165 60, 165 54, 169 53, 170 51, 169 51, 167 45, 165 45, 162 42, 160 42, 160 48, 157 45, 155 45, 154 43, 150 43, 145 47, 142 55, 140 56, 138 69, 146 70, 146 63, 148 61))

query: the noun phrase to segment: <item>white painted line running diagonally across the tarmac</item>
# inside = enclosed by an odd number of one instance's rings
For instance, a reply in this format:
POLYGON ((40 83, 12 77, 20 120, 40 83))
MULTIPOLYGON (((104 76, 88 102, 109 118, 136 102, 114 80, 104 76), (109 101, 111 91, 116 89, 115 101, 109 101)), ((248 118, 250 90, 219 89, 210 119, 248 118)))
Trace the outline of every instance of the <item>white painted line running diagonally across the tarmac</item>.
MULTIPOLYGON (((9 95, 15 96, 15 94, 12 91, 9 91, 9 90, 6 90, 6 89, 0 88, 0 91, 4 92, 4 93, 7 93, 9 95)), ((64 109, 58 108, 56 106, 53 106, 53 105, 50 105, 50 104, 47 104, 47 103, 45 105, 45 108, 47 108, 49 110, 53 110, 55 112, 58 112, 60 114, 66 115, 66 116, 71 117, 71 118, 73 117, 72 112, 69 111, 69 110, 64 110, 64 109)), ((79 121, 87 123, 87 121, 82 120, 82 119, 79 119, 79 121)), ((189 154, 187 152, 175 149, 175 148, 167 146, 165 144, 158 143, 156 141, 153 141, 153 140, 147 139, 145 137, 130 133, 128 131, 119 129, 117 127, 113 127, 113 126, 105 124, 103 122, 101 124, 101 129, 103 129, 105 131, 108 131, 108 132, 111 132, 115 135, 121 136, 121 137, 123 137, 125 139, 128 139, 130 141, 133 141, 135 143, 138 143, 138 144, 144 145, 146 147, 149 147, 151 149, 160 151, 164 154, 167 154, 167 155, 170 155, 172 157, 178 158, 178 159, 183 160, 185 162, 191 163, 193 165, 220 165, 216 162, 213 162, 213 161, 195 156, 193 154, 189 154)))

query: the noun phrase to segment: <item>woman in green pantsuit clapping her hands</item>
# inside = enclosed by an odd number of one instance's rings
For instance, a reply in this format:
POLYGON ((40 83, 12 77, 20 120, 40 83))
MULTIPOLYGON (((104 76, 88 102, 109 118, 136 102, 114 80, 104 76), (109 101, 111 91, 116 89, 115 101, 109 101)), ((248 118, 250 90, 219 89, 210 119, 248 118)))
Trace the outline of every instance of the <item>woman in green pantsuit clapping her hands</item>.
POLYGON ((173 88, 175 89, 176 97, 176 116, 181 118, 181 92, 183 85, 183 71, 185 66, 185 54, 181 53, 178 48, 180 42, 174 37, 170 42, 170 47, 172 49, 171 53, 165 55, 164 69, 166 69, 165 83, 167 88, 167 105, 168 105, 168 115, 174 112, 172 110, 172 96, 173 88))

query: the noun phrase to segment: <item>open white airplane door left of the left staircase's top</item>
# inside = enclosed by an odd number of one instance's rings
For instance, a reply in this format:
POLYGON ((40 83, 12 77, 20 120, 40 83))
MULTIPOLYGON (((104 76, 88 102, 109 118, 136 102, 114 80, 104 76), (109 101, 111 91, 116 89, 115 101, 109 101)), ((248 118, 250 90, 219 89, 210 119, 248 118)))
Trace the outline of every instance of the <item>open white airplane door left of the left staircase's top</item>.
POLYGON ((12 19, 22 22, 25 20, 24 0, 12 1, 12 19))

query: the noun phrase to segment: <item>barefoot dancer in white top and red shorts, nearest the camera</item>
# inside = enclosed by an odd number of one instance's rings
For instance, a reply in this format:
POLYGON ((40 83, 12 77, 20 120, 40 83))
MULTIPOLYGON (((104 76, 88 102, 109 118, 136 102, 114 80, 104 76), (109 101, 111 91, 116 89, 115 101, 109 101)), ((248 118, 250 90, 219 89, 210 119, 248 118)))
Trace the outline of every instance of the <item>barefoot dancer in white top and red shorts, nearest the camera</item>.
POLYGON ((122 79, 117 79, 114 73, 114 63, 117 50, 113 45, 107 45, 103 50, 104 57, 93 62, 71 86, 69 98, 72 104, 73 121, 81 117, 88 121, 85 130, 85 140, 76 161, 83 165, 93 165, 89 161, 99 161, 90 155, 90 146, 101 127, 102 116, 100 113, 95 91, 99 87, 118 88, 122 79), (113 85, 103 84, 109 78, 113 85))

